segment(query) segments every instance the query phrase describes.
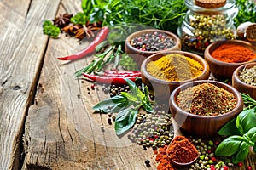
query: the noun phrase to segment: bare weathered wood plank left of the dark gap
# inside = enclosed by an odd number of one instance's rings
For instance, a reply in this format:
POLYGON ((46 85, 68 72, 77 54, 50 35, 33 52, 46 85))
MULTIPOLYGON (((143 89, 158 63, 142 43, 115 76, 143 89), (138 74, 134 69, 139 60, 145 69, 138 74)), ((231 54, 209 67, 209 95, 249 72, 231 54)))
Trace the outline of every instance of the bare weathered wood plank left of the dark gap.
POLYGON ((48 41, 42 23, 55 16, 59 3, 0 2, 0 169, 20 166, 20 139, 48 41))

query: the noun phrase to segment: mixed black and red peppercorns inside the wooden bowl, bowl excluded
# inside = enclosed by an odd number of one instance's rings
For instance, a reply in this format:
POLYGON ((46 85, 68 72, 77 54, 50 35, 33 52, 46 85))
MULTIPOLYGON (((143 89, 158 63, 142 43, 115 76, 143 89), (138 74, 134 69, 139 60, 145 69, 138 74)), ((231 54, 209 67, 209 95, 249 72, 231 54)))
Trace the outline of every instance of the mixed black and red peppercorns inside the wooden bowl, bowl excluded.
POLYGON ((131 46, 142 51, 159 51, 172 48, 175 42, 165 33, 154 31, 133 38, 131 46))

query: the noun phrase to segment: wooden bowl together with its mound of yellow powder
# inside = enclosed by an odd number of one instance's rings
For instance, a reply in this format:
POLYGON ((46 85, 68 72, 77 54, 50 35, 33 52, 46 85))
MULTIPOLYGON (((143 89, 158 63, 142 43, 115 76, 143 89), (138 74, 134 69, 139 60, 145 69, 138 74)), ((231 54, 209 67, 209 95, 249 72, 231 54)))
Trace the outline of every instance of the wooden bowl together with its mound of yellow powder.
POLYGON ((210 71, 206 60, 197 54, 169 51, 153 54, 143 61, 142 80, 157 102, 168 104, 172 91, 185 82, 207 80, 210 71))

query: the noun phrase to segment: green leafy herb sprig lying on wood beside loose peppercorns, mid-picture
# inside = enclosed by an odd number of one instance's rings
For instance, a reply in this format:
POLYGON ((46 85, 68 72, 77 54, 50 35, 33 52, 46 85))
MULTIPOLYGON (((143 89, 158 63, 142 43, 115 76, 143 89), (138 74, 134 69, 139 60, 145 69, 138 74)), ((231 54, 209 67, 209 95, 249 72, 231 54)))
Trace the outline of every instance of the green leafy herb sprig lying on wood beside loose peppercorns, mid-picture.
POLYGON ((121 92, 110 99, 103 99, 96 104, 93 109, 102 113, 118 113, 114 122, 114 129, 117 135, 127 132, 136 122, 138 110, 153 112, 152 105, 148 99, 148 87, 143 86, 143 90, 137 87, 135 82, 125 78, 130 87, 131 93, 121 92))

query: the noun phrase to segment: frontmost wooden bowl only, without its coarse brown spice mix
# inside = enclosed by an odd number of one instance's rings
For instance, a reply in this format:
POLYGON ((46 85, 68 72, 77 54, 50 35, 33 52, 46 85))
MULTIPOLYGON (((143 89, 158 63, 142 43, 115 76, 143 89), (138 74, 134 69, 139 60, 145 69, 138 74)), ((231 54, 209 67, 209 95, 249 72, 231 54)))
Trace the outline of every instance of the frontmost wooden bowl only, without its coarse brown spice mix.
POLYGON ((177 122, 178 127, 189 135, 195 135, 200 138, 213 138, 218 134, 218 130, 224 126, 225 123, 236 117, 243 110, 243 100, 241 94, 232 86, 217 81, 200 80, 195 82, 187 82, 176 88, 170 97, 170 111, 172 117, 177 122), (199 116, 187 111, 183 111, 177 106, 176 98, 181 90, 196 86, 205 82, 210 82, 219 88, 224 88, 230 93, 234 94, 236 98, 236 107, 223 115, 218 116, 199 116))

